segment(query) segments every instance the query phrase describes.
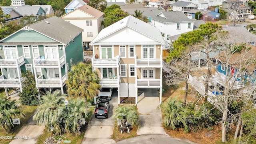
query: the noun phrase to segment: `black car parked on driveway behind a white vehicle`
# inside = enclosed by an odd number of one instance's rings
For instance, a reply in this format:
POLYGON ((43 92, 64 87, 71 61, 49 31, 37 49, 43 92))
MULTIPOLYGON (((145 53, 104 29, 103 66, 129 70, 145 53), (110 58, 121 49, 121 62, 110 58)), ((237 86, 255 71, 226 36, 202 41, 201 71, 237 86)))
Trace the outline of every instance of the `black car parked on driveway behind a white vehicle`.
POLYGON ((96 103, 95 118, 108 118, 109 101, 101 100, 96 103))

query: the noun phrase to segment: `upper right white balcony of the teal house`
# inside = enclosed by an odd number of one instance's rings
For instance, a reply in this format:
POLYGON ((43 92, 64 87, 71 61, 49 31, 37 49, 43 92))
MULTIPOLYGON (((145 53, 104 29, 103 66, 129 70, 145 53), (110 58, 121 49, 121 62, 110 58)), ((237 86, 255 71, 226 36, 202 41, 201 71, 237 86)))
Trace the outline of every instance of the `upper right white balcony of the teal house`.
POLYGON ((62 66, 65 64, 65 57, 62 56, 60 59, 48 60, 41 59, 41 56, 38 56, 33 59, 33 64, 35 68, 56 68, 56 66, 62 66))

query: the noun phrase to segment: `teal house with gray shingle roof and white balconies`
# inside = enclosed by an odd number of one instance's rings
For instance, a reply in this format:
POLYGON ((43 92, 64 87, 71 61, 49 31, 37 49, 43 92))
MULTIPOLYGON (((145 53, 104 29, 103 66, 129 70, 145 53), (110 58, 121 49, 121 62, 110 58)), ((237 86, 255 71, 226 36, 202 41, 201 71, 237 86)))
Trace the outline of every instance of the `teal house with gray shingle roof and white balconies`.
POLYGON ((36 87, 64 93, 68 70, 83 61, 83 29, 53 16, 0 40, 0 87, 20 88, 22 71, 30 70, 36 87))

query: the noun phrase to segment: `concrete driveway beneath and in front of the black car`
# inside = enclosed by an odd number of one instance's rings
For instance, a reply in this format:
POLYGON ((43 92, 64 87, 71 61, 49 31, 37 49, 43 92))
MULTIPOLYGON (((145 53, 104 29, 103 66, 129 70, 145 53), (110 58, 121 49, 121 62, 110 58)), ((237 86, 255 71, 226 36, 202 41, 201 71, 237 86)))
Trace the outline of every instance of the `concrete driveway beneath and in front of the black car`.
POLYGON ((110 102, 109 118, 94 118, 94 113, 88 124, 82 144, 112 144, 115 141, 111 138, 114 131, 113 109, 118 106, 117 91, 114 90, 110 102))

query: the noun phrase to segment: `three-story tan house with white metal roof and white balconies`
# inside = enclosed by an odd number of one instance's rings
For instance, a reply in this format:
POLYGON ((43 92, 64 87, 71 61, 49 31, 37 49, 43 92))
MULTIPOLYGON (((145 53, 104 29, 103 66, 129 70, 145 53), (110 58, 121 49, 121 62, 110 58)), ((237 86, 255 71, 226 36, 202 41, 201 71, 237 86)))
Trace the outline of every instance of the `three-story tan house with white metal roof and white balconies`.
POLYGON ((120 97, 135 97, 138 88, 156 90, 162 102, 162 48, 160 31, 133 16, 104 28, 90 43, 92 67, 99 74, 100 85, 117 88, 120 97))

